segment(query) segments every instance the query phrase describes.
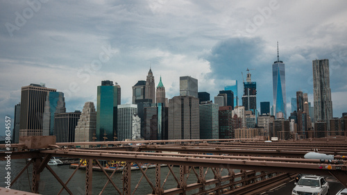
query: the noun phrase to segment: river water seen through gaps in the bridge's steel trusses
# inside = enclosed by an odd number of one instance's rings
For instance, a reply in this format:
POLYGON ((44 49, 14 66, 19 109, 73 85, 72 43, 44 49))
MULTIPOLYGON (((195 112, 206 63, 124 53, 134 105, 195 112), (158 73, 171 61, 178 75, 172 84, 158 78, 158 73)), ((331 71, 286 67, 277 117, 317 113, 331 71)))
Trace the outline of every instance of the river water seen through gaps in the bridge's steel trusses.
MULTIPOLYGON (((21 159, 21 160, 10 160, 10 176, 11 180, 13 180, 26 165, 26 160, 21 159)), ((6 175, 7 175, 7 170, 6 168, 6 161, 0 161, 0 175, 1 175, 1 187, 6 187, 6 175)), ((59 176, 59 178, 65 183, 67 179, 71 176, 71 174, 74 172, 74 169, 69 169, 69 165, 62 165, 62 166, 51 166, 54 172, 59 176)), ((175 172, 176 177, 179 179, 179 167, 173 167, 173 170, 175 172)), ((22 176, 19 178, 19 180, 16 181, 16 183, 11 186, 11 189, 18 189, 22 190, 25 192, 30 192, 31 190, 31 180, 32 180, 32 171, 33 167, 30 166, 28 167, 28 171, 24 171, 22 176), (30 184, 29 184, 30 181, 30 184)), ((198 169, 196 169, 198 172, 198 169)), ((167 173, 169 172, 169 169, 167 167, 162 167, 161 169, 161 181, 162 183, 164 182, 164 179, 167 177, 167 173)), ((205 173, 205 169, 204 169, 205 173)), ((111 173, 108 173, 109 176, 111 173)), ((155 185, 155 169, 148 169, 146 171, 146 175, 149 176, 149 179, 155 185)), ((223 170, 223 175, 226 175, 226 170, 223 170)), ((187 175, 185 175, 186 177, 187 175)), ((131 172, 131 189, 132 192, 135 189, 137 183, 139 182, 140 178, 142 178, 142 173, 141 171, 132 171, 131 172)), ((213 173, 212 171, 208 171, 207 176, 205 177, 206 179, 211 179, 213 178, 213 173)), ((112 176, 112 180, 115 183, 115 185, 122 190, 122 173, 115 173, 114 176, 112 176)), ((101 171, 93 171, 93 177, 92 177, 92 188, 93 188, 93 194, 99 194, 101 192, 101 189, 107 182, 108 178, 104 175, 103 172, 101 171)), ((187 180, 187 183, 196 183, 196 176, 194 174, 194 171, 190 171, 189 173, 189 178, 187 180)), ((169 175, 169 178, 167 179, 167 183, 164 185, 164 189, 171 189, 177 186, 177 183, 174 179, 174 177, 169 175)), ((58 192, 61 189, 60 183, 58 183, 58 180, 54 178, 54 176, 49 172, 48 169, 44 169, 42 173, 40 174, 40 188, 39 192, 40 194, 58 194, 58 192)), ((85 194, 85 170, 80 169, 76 171, 74 177, 70 180, 69 184, 67 185, 71 192, 73 194, 85 194)), ((211 186, 213 187, 213 186, 211 186)), ((209 187, 206 187, 206 189, 209 189, 209 187)), ((147 183, 146 179, 143 177, 142 181, 136 190, 135 194, 151 194, 151 186, 149 183, 147 183)), ((198 192, 189 192, 187 194, 194 194, 198 192)), ((65 189, 62 192, 62 194, 68 194, 65 189)), ((113 187, 111 183, 108 183, 108 186, 106 187, 105 191, 103 194, 117 194, 116 189, 113 187)))

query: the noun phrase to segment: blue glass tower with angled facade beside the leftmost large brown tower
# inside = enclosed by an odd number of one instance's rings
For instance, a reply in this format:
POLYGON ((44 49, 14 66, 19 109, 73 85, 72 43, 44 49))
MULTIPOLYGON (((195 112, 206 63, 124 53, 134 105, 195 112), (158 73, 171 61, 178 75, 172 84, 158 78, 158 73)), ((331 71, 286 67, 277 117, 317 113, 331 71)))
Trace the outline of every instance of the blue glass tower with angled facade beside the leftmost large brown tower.
POLYGON ((54 135, 54 114, 66 112, 62 92, 48 92, 44 103, 42 135, 54 135))

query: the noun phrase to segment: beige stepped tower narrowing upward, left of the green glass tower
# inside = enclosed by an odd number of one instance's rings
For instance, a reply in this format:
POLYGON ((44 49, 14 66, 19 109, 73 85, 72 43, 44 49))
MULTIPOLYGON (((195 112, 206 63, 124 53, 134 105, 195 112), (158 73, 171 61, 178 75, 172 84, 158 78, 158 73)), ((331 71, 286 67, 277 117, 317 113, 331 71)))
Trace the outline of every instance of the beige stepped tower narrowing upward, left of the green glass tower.
POLYGON ((75 142, 92 142, 94 133, 96 133, 96 110, 94 103, 88 101, 83 106, 81 117, 75 128, 75 142))

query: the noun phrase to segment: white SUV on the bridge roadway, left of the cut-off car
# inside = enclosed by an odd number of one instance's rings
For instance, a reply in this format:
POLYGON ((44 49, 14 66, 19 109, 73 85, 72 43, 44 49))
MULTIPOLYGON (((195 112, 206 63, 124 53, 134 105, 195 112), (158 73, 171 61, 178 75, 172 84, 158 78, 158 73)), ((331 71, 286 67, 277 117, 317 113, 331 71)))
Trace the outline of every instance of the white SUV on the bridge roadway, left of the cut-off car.
POLYGON ((291 192, 292 195, 329 195, 329 184, 322 176, 303 176, 291 192))

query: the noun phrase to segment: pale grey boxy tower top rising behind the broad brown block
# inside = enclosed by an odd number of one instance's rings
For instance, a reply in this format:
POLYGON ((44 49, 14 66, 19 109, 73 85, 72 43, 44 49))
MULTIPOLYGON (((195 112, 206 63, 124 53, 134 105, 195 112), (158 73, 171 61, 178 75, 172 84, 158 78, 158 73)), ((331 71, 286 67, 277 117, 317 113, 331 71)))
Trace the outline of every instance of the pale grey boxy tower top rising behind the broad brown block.
POLYGON ((191 76, 180 76, 180 96, 198 98, 198 80, 191 76))

